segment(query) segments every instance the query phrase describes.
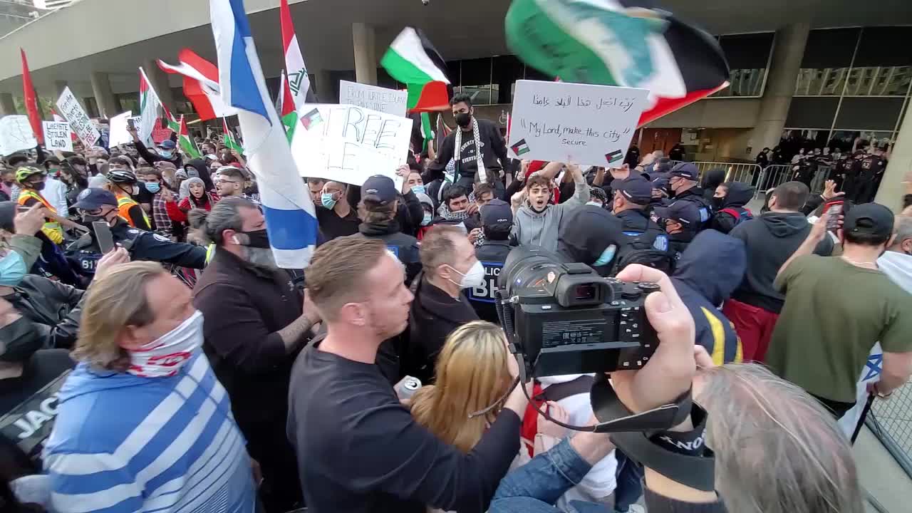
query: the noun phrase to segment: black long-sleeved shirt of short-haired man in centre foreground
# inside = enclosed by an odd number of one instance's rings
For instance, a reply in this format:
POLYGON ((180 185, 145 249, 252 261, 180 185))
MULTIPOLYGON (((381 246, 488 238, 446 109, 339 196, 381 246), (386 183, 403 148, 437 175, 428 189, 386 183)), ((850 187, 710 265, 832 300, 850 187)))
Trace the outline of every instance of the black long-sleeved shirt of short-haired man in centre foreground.
POLYGON ((519 451, 504 410, 468 455, 417 424, 377 365, 311 346, 291 375, 288 436, 307 510, 482 512, 519 451))

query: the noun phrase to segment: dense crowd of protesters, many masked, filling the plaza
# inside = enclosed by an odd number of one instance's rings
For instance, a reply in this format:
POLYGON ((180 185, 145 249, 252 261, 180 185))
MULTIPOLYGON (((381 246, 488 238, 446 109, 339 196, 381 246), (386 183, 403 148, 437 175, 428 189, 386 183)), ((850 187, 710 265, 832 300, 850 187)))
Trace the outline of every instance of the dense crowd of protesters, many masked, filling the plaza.
POLYGON ((863 510, 835 420, 876 342, 872 393, 912 372, 912 219, 853 178, 876 152, 752 213, 756 183, 635 147, 619 168, 520 162, 471 97, 451 108, 400 184, 303 179, 306 273, 276 265, 254 174, 212 134, 202 159, 135 132, 5 159, 5 510, 863 510), (649 443, 714 458, 714 485, 565 429, 598 422, 598 376, 516 384, 494 290, 518 246, 658 286, 659 349, 612 386, 631 414, 692 397, 649 443))

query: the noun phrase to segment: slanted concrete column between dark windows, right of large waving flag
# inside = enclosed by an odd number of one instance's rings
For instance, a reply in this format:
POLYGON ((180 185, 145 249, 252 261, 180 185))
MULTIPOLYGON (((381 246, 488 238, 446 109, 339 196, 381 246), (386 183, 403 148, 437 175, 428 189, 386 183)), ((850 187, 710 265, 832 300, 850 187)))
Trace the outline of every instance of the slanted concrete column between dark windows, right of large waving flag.
POLYGON ((760 103, 760 116, 749 144, 755 152, 779 144, 782 129, 785 128, 785 118, 792 105, 795 80, 798 79, 804 45, 807 43, 810 30, 811 26, 808 23, 795 23, 783 26, 776 32, 770 69, 767 71, 766 88, 760 103))

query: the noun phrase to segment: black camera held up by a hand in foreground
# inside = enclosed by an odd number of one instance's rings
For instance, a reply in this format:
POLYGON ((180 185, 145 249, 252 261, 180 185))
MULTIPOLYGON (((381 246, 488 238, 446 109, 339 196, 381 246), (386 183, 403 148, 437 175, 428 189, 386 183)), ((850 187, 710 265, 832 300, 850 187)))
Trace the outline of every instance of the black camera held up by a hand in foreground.
POLYGON ((643 303, 654 283, 599 277, 537 247, 510 252, 498 282, 498 313, 522 353, 526 375, 637 370, 658 347, 643 303))

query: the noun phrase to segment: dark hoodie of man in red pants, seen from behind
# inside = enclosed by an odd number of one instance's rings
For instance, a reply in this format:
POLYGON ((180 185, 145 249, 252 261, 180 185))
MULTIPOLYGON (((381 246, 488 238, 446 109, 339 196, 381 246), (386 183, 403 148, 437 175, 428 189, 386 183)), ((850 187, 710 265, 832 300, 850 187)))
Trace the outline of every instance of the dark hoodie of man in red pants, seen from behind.
MULTIPOLYGON (((767 212, 731 230, 731 236, 744 241, 747 272, 731 298, 779 313, 785 297, 772 287, 779 267, 804 242, 811 225, 801 213, 767 212)), ((833 253, 833 240, 826 236, 814 249, 817 255, 833 253)))

